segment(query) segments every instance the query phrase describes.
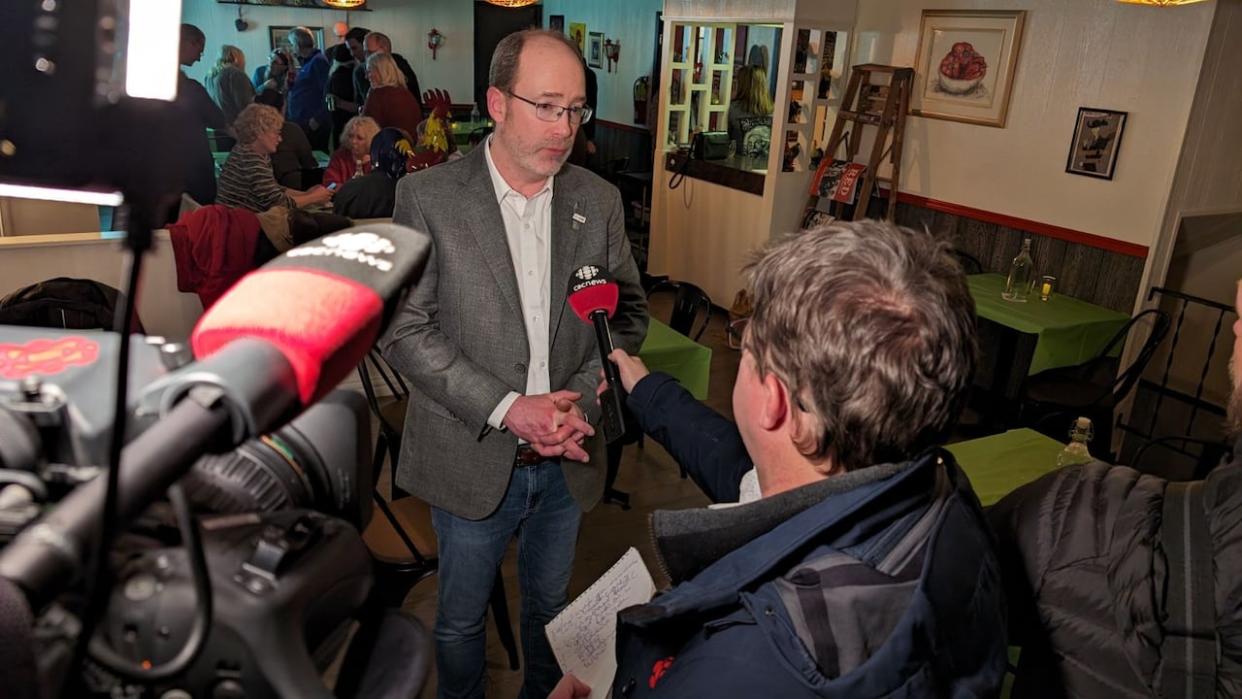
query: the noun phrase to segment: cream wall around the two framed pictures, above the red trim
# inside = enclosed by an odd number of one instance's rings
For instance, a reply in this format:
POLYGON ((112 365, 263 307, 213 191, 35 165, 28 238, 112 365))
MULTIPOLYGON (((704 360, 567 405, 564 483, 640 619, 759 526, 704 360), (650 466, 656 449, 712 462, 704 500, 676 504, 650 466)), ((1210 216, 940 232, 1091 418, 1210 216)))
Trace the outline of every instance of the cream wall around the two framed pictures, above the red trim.
MULTIPOLYGON (((1216 4, 1001 5, 1027 10, 1007 125, 908 117, 902 191, 1151 245, 1161 228, 1216 4), (1129 112, 1112 181, 1064 171, 1079 107, 1129 112)), ((984 0, 866 0, 858 4, 853 63, 914 66, 920 15, 929 6, 999 9, 984 0)))

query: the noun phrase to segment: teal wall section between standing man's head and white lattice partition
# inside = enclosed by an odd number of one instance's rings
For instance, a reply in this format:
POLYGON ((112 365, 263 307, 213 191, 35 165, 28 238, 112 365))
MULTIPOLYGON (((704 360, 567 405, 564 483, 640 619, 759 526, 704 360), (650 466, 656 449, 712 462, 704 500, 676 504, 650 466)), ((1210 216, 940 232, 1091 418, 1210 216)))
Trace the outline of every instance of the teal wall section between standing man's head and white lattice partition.
POLYGON ((600 84, 596 118, 621 124, 633 123, 633 81, 650 76, 656 56, 656 12, 663 0, 544 0, 544 26, 551 15, 565 15, 570 22, 585 22, 586 31, 604 32, 605 38, 621 41, 621 58, 607 72, 594 68, 600 84))

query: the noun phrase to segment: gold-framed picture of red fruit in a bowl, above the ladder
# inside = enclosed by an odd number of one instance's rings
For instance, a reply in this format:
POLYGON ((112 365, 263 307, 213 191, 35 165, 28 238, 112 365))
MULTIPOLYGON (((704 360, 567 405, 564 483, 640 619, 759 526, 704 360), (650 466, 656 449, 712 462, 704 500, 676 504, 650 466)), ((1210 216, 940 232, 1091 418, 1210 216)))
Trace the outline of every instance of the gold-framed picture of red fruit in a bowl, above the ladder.
POLYGON ((910 114, 1004 127, 1025 10, 923 10, 910 114))

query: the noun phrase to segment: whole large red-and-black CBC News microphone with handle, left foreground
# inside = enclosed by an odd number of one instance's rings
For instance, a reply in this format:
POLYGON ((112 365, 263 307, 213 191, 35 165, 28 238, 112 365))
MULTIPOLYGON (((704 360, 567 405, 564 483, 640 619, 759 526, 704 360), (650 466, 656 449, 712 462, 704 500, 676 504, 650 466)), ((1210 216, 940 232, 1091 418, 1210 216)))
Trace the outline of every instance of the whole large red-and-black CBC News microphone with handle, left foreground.
MULTIPOLYGON (((339 384, 375 344, 430 248, 411 228, 359 226, 298 246, 233 284, 191 334, 199 361, 143 394, 161 418, 122 452, 122 526, 204 453, 279 427, 339 384), (196 389, 212 395, 209 405, 194 400, 196 389), (221 444, 226 432, 231 440, 221 444)), ((78 552, 97 534, 104 480, 78 487, 0 550, 0 577, 17 582, 34 606, 81 574, 78 552)))

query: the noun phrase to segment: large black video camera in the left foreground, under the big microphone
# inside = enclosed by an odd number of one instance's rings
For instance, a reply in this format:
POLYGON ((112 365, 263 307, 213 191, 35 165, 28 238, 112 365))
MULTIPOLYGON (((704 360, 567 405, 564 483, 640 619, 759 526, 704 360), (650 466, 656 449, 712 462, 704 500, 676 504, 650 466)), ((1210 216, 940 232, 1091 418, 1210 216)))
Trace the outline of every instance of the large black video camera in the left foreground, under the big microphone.
MULTIPOLYGON (((217 448, 231 441, 231 428, 221 421, 217 435, 197 440, 169 430, 159 406, 189 377, 191 390, 230 380, 219 366, 189 361, 184 345, 139 335, 129 339, 135 397, 120 476, 122 509, 135 515, 134 526, 111 551, 117 580, 87 662, 72 667, 81 581, 63 571, 84 570, 81 551, 48 575, 47 564, 31 565, 34 556, 10 545, 58 513, 62 523, 96 521, 102 479, 92 464, 104 458, 113 420, 108 375, 99 369, 116 361, 119 341, 112 333, 0 327, 0 576, 19 582, 42 608, 34 633, 42 694, 77 682, 83 692, 112 697, 174 689, 194 697, 327 695, 319 677, 371 587, 358 534, 371 508, 365 400, 334 391, 270 435, 194 458, 180 485, 205 513, 195 546, 168 503, 140 502, 143 488, 175 477, 171 462, 184 461, 159 442, 184 437, 217 448), (160 453, 169 459, 158 463, 160 453), (204 600, 195 590, 195 548, 210 575, 210 631, 197 639, 204 600), (184 669, 148 677, 188 644, 199 648, 184 669)), ((263 355, 251 359, 261 364, 263 355)))

